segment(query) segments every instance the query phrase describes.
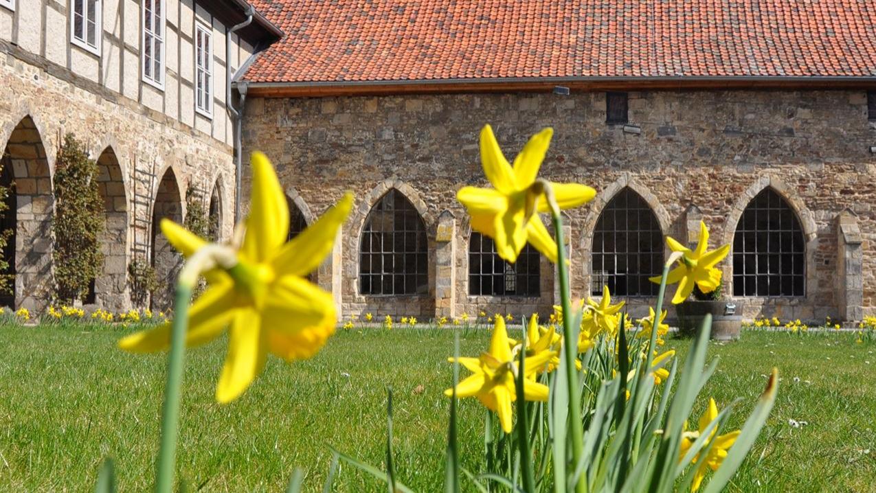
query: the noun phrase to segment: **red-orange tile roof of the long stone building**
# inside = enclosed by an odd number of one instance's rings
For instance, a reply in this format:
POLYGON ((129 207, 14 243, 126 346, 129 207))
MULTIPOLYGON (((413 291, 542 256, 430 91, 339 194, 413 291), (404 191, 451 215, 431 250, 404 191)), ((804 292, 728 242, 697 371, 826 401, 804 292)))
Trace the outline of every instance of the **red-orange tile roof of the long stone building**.
POLYGON ((251 82, 876 77, 876 0, 254 0, 251 82))

